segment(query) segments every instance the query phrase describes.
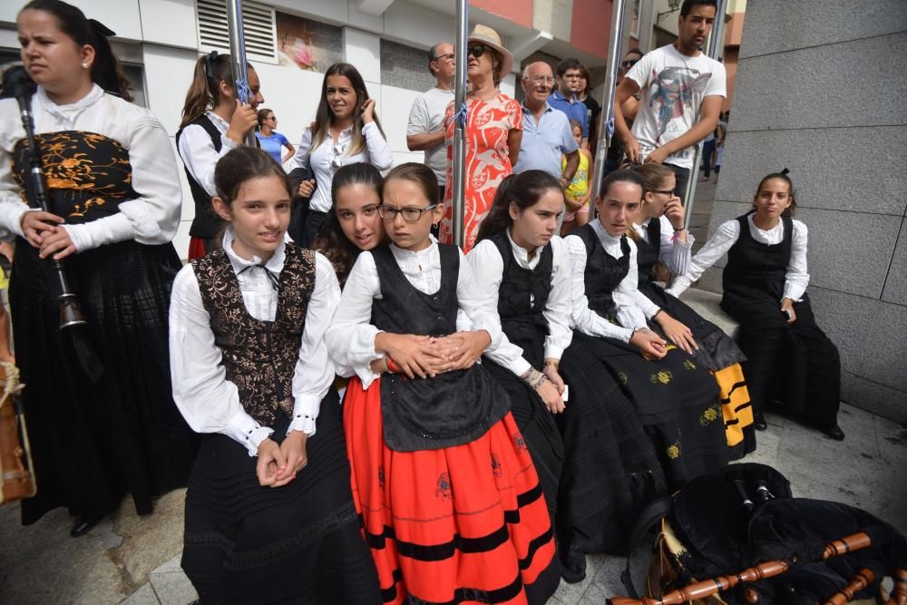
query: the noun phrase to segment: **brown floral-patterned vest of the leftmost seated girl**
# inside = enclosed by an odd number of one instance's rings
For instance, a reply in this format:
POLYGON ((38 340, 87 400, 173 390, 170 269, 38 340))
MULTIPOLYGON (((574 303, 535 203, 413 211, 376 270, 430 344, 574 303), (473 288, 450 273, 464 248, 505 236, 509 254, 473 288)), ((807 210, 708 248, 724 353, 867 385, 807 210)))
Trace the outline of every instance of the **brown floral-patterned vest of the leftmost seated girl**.
POLYGON ((193 260, 192 268, 227 380, 237 386, 243 408, 263 425, 273 425, 278 413, 291 416, 293 374, 308 300, 315 288, 315 252, 287 244, 274 321, 249 315, 223 249, 193 260))

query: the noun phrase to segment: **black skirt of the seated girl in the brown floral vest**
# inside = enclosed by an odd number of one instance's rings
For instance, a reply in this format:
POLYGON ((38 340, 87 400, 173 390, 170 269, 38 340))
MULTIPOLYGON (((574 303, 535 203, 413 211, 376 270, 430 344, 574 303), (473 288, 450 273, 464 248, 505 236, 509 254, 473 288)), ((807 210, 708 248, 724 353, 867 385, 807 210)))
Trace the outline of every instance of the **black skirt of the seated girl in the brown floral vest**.
MULTIPOLYGON (((281 442, 288 419, 271 438, 281 442)), ((321 402, 308 464, 283 487, 258 484, 258 458, 205 434, 186 492, 182 569, 202 603, 380 603, 350 489, 341 409, 321 402)))

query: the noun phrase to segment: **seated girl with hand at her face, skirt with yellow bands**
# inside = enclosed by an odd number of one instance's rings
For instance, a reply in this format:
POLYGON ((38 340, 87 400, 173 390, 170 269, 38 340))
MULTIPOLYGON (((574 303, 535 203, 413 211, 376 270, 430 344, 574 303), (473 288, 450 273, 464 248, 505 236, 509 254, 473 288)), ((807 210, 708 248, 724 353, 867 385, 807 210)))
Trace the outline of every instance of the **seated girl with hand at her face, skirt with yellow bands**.
POLYGON ((678 321, 679 325, 673 325, 673 331, 667 332, 668 338, 715 376, 727 445, 733 459, 741 458, 756 449, 753 410, 740 367, 746 356, 720 327, 703 319, 656 283, 655 265, 659 260, 675 275, 687 272, 693 236, 684 225, 680 198, 674 194, 674 171, 656 163, 642 164, 635 170, 643 181, 643 203, 639 213, 630 217, 632 230, 629 231, 637 246, 637 288, 678 321))

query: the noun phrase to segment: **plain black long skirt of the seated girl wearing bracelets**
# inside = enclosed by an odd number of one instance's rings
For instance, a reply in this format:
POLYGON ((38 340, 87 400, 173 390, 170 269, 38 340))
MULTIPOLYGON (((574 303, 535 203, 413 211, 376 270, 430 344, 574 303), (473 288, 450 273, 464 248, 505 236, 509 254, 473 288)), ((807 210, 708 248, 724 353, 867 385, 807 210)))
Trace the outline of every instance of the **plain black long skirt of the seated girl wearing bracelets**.
POLYGON ((556 416, 567 454, 557 527, 561 561, 574 568, 565 571, 576 572, 582 553, 626 551, 637 514, 666 485, 636 409, 575 334, 561 376, 570 391, 556 416))

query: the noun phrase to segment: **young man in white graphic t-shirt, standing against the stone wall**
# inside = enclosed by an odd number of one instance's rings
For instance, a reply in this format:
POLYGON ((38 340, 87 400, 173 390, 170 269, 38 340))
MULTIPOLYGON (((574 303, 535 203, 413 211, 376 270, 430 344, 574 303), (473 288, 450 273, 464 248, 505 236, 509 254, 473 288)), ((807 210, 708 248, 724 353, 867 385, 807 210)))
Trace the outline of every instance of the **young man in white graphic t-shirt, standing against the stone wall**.
POLYGON ((725 67, 700 48, 715 22, 717 0, 684 0, 678 39, 633 65, 614 101, 614 128, 633 163, 655 161, 677 175, 675 193, 683 198, 693 169, 695 145, 715 130, 727 96, 725 67), (621 103, 642 91, 630 129, 621 103))

